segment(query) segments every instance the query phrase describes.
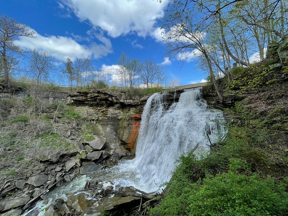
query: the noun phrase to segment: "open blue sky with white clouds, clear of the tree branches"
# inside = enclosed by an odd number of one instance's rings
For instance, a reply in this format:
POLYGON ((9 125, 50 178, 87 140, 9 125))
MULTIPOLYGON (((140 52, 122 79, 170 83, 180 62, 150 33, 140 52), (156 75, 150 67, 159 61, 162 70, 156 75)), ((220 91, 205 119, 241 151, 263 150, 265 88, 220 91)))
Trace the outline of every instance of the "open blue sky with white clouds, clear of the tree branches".
POLYGON ((34 29, 37 38, 21 38, 21 48, 46 50, 60 64, 68 56, 91 58, 95 68, 115 67, 121 53, 165 65, 169 79, 203 82, 193 59, 165 55, 161 22, 168 0, 7 0, 0 14, 34 29))

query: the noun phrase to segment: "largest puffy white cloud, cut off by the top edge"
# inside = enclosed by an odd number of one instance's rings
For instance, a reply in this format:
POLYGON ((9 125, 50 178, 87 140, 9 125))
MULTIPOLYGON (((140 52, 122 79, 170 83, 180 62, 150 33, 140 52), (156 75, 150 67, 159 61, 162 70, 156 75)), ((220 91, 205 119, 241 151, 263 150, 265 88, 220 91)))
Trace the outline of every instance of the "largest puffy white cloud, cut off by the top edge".
POLYGON ((158 18, 164 16, 168 0, 62 0, 81 20, 107 31, 111 37, 136 32, 145 37, 154 31, 158 18))

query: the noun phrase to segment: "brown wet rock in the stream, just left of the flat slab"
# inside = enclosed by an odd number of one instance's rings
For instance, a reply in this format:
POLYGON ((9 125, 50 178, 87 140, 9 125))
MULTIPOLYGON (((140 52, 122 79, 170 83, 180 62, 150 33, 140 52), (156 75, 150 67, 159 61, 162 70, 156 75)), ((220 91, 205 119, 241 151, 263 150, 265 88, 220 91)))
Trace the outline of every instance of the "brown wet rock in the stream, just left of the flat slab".
POLYGON ((74 208, 77 213, 86 211, 90 206, 92 206, 92 204, 93 203, 89 200, 88 195, 84 193, 70 196, 67 199, 67 205, 74 208))

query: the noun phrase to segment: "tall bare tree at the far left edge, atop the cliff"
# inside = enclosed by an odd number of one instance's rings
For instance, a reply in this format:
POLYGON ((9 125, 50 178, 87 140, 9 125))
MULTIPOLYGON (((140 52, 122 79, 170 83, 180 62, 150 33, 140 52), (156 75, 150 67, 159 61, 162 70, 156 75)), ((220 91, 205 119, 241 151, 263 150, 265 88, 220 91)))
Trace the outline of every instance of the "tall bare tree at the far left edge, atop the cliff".
POLYGON ((14 41, 20 36, 35 37, 35 31, 28 26, 18 23, 16 20, 6 15, 0 15, 0 54, 3 60, 4 82, 9 86, 9 58, 14 58, 17 64, 23 56, 23 50, 14 45, 14 41))

